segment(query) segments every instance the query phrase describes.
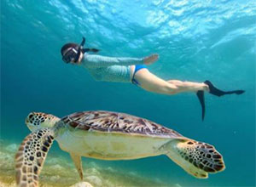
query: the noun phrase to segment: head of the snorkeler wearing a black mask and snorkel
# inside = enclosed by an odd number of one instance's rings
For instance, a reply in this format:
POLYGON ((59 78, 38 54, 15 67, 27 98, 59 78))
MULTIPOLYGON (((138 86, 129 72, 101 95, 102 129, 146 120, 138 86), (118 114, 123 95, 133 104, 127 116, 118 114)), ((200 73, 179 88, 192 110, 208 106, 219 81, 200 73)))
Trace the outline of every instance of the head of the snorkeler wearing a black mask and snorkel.
POLYGON ((69 63, 78 63, 79 57, 81 54, 85 52, 92 51, 98 52, 99 50, 96 48, 84 48, 85 38, 83 37, 82 42, 79 44, 74 42, 69 42, 63 45, 61 48, 61 55, 64 62, 69 63))

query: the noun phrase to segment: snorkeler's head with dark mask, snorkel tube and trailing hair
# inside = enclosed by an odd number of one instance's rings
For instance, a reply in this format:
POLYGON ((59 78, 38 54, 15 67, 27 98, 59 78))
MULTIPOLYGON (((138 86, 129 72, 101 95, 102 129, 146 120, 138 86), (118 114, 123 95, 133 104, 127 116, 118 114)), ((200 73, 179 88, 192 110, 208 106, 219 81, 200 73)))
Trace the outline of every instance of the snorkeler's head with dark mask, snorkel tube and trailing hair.
POLYGON ((67 48, 62 54, 62 60, 66 63, 73 61, 74 63, 78 62, 79 56, 81 53, 85 52, 98 52, 99 49, 96 48, 84 48, 85 38, 83 37, 80 45, 73 45, 73 47, 67 48), (75 47, 74 47, 75 46, 75 47))

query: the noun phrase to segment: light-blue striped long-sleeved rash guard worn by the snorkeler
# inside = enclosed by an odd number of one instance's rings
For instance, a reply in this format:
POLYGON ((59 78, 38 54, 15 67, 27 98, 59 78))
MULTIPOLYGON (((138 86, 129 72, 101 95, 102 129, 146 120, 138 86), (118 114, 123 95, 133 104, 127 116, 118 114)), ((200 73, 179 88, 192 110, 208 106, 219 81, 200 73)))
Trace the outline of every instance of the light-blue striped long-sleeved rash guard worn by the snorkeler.
POLYGON ((96 81, 131 82, 130 65, 143 65, 143 59, 84 54, 81 65, 96 81))

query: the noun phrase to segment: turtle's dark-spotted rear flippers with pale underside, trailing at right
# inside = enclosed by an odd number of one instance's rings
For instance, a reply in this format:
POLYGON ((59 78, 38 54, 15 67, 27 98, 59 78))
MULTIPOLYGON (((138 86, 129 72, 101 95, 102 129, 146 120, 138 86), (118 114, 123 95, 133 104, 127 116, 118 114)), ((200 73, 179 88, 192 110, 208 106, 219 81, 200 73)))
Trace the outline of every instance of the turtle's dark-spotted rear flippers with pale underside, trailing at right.
POLYGON ((165 147, 169 150, 166 156, 196 178, 208 178, 208 173, 218 173, 225 168, 222 156, 210 144, 177 139, 165 147))

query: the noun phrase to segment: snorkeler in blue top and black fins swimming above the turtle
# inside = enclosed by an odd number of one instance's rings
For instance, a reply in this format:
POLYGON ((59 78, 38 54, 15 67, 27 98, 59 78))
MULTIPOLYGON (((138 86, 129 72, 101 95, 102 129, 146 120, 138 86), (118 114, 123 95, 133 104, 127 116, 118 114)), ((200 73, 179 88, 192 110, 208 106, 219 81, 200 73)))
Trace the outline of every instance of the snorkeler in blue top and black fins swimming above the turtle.
POLYGON ((131 82, 149 92, 157 94, 178 94, 194 92, 201 103, 202 120, 205 116, 204 91, 218 97, 225 94, 243 94, 244 90, 222 91, 215 88, 212 82, 182 82, 178 80, 165 81, 148 71, 146 65, 154 63, 158 54, 145 58, 106 57, 87 52, 98 52, 96 48, 84 48, 85 38, 81 44, 67 43, 61 48, 62 59, 66 63, 84 66, 97 81, 131 82))

